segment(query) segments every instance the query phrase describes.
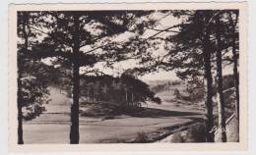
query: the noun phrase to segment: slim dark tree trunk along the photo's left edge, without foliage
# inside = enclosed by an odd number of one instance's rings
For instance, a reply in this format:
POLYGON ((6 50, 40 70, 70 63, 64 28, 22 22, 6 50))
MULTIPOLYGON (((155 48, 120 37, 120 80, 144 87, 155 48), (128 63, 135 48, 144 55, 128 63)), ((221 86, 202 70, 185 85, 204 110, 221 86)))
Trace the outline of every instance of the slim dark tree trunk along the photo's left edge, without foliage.
POLYGON ((18 56, 18 144, 24 144, 23 139, 23 96, 22 96, 22 75, 23 75, 23 54, 28 52, 29 47, 29 39, 27 33, 27 22, 28 22, 28 15, 23 13, 23 35, 24 35, 24 47, 20 56, 18 56))

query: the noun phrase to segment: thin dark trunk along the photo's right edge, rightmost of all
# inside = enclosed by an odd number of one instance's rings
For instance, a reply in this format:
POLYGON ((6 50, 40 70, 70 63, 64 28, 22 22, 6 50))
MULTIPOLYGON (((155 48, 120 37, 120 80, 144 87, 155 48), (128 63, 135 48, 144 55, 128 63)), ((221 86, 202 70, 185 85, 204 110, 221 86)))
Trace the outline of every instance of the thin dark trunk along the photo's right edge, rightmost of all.
POLYGON ((238 74, 238 53, 236 52, 237 46, 235 43, 235 26, 237 25, 238 20, 238 12, 235 13, 235 21, 233 21, 231 17, 231 13, 229 14, 230 24, 232 26, 232 38, 231 38, 231 44, 232 44, 232 61, 233 61, 233 79, 234 79, 234 87, 235 87, 235 96, 236 96, 236 104, 235 104, 235 117, 237 120, 237 132, 238 132, 238 141, 239 141, 239 74, 238 74))

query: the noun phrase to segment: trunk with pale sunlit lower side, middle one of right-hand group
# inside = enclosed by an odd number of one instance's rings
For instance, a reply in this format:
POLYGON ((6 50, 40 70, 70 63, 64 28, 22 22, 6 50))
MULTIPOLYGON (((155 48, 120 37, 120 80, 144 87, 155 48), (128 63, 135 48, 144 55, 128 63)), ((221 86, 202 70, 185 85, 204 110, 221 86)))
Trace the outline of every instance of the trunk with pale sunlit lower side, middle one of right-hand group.
POLYGON ((221 39, 221 26, 220 16, 216 18, 216 38, 217 38, 217 51, 216 51, 216 66, 217 66, 217 96, 220 105, 219 108, 219 127, 221 127, 222 141, 226 142, 225 132, 225 118, 224 118, 224 93, 223 93, 223 58, 222 58, 222 39, 221 39))

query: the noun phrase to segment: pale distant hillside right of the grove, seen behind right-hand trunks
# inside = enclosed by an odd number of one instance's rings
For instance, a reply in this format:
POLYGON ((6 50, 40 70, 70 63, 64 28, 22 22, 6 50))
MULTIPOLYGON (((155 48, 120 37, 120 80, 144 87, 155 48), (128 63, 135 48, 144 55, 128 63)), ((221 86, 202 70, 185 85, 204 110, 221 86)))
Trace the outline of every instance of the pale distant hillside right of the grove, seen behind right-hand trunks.
MULTIPOLYGON (((204 87, 191 87, 181 80, 153 80, 148 81, 154 91, 165 104, 172 104, 178 107, 205 110, 204 87)), ((218 102, 216 86, 214 85, 214 115, 218 120, 218 102)), ((224 102, 225 117, 230 117, 235 109, 235 93, 232 77, 224 77, 224 102)))

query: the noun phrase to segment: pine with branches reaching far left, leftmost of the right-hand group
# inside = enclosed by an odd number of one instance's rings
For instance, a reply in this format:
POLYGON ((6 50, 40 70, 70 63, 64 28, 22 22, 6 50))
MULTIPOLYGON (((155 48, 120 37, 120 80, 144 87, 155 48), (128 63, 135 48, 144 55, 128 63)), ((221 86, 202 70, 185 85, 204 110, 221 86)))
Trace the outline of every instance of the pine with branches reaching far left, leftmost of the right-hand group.
MULTIPOLYGON (((214 45, 211 40, 214 29, 212 25, 214 12, 212 10, 172 11, 172 15, 177 18, 181 16, 186 18, 181 24, 160 30, 160 32, 163 32, 169 31, 172 28, 178 28, 178 30, 173 30, 174 34, 170 34, 169 37, 158 37, 158 39, 166 42, 165 50, 167 53, 157 60, 154 60, 151 55, 146 53, 145 55, 148 56, 146 61, 142 60, 142 64, 146 64, 146 67, 136 70, 143 73, 155 71, 156 69, 174 70, 177 76, 183 79, 204 77, 206 92, 206 138, 208 142, 214 142, 215 132, 211 131, 214 128, 212 99, 214 95, 212 76, 214 45)), ((154 37, 151 39, 154 39, 154 37)))

